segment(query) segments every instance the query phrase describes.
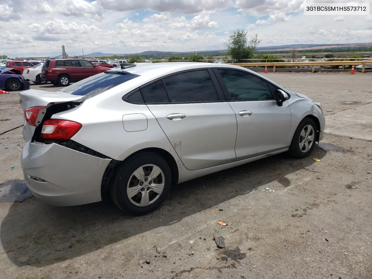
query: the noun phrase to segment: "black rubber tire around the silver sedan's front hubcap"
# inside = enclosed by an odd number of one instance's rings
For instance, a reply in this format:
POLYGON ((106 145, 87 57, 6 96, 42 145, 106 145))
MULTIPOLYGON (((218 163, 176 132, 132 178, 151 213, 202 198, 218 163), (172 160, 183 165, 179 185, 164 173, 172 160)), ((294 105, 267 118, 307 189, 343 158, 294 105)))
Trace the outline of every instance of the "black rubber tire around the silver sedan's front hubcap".
POLYGON ((317 125, 315 125, 314 120, 312 120, 311 118, 302 119, 300 124, 298 124, 297 126, 295 134, 293 135, 293 138, 292 138, 291 145, 289 146, 289 150, 288 150, 289 155, 295 158, 307 157, 315 147, 315 141, 317 140, 317 136, 318 136, 317 133, 318 133, 317 125), (304 129, 308 125, 310 125, 314 131, 314 141, 312 141, 310 149, 305 152, 305 151, 301 151, 299 143, 300 141, 302 142, 302 140, 304 140, 304 138, 301 136, 302 129, 304 129))

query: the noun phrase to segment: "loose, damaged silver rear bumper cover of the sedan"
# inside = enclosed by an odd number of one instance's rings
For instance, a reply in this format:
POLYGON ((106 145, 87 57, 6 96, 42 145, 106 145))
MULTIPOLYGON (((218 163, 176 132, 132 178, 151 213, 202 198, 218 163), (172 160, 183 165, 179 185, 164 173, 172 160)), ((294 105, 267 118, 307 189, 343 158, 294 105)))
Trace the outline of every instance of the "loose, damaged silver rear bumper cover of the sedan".
POLYGON ((31 192, 55 206, 101 201, 102 176, 110 161, 56 143, 31 141, 26 142, 21 156, 31 192))

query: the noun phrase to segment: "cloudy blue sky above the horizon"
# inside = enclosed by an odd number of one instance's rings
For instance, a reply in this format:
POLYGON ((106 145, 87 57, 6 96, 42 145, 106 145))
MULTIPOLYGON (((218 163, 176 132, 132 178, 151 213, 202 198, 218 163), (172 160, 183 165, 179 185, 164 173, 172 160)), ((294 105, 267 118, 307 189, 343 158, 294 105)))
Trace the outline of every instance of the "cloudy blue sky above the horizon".
POLYGON ((223 49, 237 28, 257 33, 259 46, 372 41, 372 15, 308 16, 304 2, 0 0, 0 54, 59 55, 62 44, 69 55, 223 49))

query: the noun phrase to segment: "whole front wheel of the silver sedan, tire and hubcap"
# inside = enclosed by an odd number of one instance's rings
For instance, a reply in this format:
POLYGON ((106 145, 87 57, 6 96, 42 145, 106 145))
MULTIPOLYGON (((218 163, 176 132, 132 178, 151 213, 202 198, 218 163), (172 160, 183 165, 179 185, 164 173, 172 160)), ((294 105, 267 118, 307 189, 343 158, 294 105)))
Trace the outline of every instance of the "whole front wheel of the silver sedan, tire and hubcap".
POLYGON ((304 118, 298 125, 289 146, 289 155, 305 158, 314 149, 317 140, 317 126, 311 118, 304 118))

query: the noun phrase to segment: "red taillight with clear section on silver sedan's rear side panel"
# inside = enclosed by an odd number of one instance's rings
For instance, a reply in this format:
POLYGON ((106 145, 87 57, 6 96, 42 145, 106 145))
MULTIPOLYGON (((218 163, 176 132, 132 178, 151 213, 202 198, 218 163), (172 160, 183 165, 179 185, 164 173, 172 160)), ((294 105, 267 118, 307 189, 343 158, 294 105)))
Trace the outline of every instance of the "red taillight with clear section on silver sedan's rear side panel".
POLYGON ((63 120, 48 119, 44 121, 41 138, 44 140, 70 140, 82 127, 80 123, 63 120))

